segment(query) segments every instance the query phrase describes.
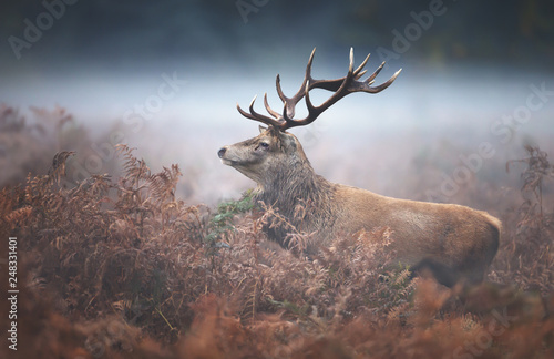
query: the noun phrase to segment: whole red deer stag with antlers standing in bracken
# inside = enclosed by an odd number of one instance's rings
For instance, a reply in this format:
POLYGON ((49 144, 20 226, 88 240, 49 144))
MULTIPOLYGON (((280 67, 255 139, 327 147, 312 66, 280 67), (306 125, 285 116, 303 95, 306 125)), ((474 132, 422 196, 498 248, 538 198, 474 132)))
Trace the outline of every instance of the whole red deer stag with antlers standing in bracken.
MULTIPOLYGON (((311 76, 311 52, 300 90, 291 98, 284 94, 277 74, 277 94, 283 111, 274 111, 264 95, 269 115, 255 111, 252 100, 249 111, 237 103, 238 112, 246 119, 263 123, 256 137, 218 150, 222 163, 248 178, 257 187, 254 201, 277 208, 280 216, 305 233, 315 233, 315 248, 328 246, 334 238, 355 235, 360 230, 389 228, 387 248, 394 263, 409 267, 414 275, 429 273, 442 285, 458 283, 479 284, 491 265, 501 236, 501 222, 486 212, 456 204, 397 199, 348 185, 336 184, 318 175, 307 158, 298 139, 287 132, 296 126, 312 123, 337 101, 355 92, 379 93, 400 74, 400 69, 388 81, 373 85, 384 62, 366 80, 369 54, 353 68, 353 49, 346 76, 336 80, 316 80, 311 76), (310 91, 322 89, 332 94, 320 105, 314 105, 310 91), (306 117, 295 119, 295 109, 305 99, 306 117), (298 208, 309 207, 298 215, 298 208)), ((269 239, 287 247, 287 228, 266 226, 269 239)))

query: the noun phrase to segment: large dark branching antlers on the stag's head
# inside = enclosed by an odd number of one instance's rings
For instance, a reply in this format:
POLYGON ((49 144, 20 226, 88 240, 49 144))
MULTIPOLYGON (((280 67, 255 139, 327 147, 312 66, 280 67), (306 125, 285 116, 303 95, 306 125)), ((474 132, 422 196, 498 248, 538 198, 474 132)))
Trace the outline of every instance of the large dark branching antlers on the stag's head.
POLYGON ((325 110, 329 109, 334 103, 352 92, 378 93, 383 91, 397 79, 400 71, 402 71, 402 69, 398 70, 387 82, 372 88, 371 84, 373 84, 375 82, 373 79, 379 74, 379 72, 381 72, 384 65, 384 61, 368 79, 358 81, 367 72, 367 70, 363 70, 363 66, 366 66, 366 63, 369 60, 369 54, 366 57, 366 60, 363 60, 363 62, 358 66, 358 69, 353 70, 353 49, 350 48, 350 65, 348 66, 348 73, 346 76, 336 80, 315 80, 314 78, 311 78, 311 63, 314 61, 315 53, 316 49, 314 48, 314 51, 311 51, 311 55, 308 61, 308 65, 306 66, 306 75, 304 76, 304 82, 300 85, 300 90, 298 90, 298 92, 293 98, 287 98, 283 93, 283 90, 280 88, 280 78, 279 75, 277 75, 275 82, 277 86, 277 93, 279 94, 279 98, 284 104, 283 113, 278 113, 269 106, 267 102, 267 93, 264 94, 264 105, 267 112, 273 117, 257 113, 254 110, 254 102, 256 101, 256 96, 254 96, 250 102, 250 106, 248 107, 249 113, 240 109, 240 106, 237 104, 238 112, 240 112, 240 114, 247 119, 259 121, 267 125, 276 126, 280 131, 285 131, 287 129, 296 126, 304 126, 314 122, 325 110), (319 106, 315 106, 311 103, 309 96, 309 92, 312 89, 324 89, 332 91, 335 93, 322 104, 320 104, 319 106), (302 120, 294 120, 296 104, 302 98, 306 98, 308 115, 302 120))

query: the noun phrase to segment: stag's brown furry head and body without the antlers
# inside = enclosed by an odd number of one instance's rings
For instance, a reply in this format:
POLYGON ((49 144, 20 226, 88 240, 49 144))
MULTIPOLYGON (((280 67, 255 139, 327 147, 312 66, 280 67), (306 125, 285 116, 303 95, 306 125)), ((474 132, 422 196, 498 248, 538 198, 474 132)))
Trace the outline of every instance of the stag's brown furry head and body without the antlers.
MULTIPOLYGON (((334 184, 317 175, 299 141, 278 129, 219 150, 224 164, 254 180, 257 201, 278 208, 299 230, 316 232, 317 245, 340 235, 389 227, 396 263, 430 269, 444 285, 483 279, 499 247, 501 223, 485 212, 453 204, 384 197, 334 184), (297 206, 305 213, 295 215, 297 206)), ((283 244, 286 228, 268 228, 283 244)), ((314 248, 311 248, 314 250, 314 248)))

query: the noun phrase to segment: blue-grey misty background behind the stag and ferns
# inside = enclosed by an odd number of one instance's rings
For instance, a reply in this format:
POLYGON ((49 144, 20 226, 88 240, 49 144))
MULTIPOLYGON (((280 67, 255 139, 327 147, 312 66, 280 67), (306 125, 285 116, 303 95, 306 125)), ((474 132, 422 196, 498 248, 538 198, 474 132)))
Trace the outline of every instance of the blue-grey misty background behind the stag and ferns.
MULTIPOLYGON (((291 130, 331 181, 463 203, 466 187, 481 182, 495 183, 485 188, 495 194, 517 185, 504 167, 525 155, 523 145, 554 154, 552 1, 45 0, 0 8, 0 185, 44 173, 61 150, 78 152, 70 181, 111 173, 114 145, 124 142, 154 171, 177 163, 186 201, 237 197, 253 183, 216 155, 258 133, 237 102, 245 109, 257 94, 261 112, 267 92, 280 109, 275 75, 286 94, 298 91, 314 48, 316 79, 343 76, 351 47, 356 65, 371 53, 370 73, 387 61, 376 83, 402 68, 386 91, 352 94, 291 130), (13 123, 21 132, 23 117, 28 130, 18 140, 13 123)), ((315 102, 328 95, 319 91, 315 102)), ((304 101, 298 106, 301 116, 304 101)))

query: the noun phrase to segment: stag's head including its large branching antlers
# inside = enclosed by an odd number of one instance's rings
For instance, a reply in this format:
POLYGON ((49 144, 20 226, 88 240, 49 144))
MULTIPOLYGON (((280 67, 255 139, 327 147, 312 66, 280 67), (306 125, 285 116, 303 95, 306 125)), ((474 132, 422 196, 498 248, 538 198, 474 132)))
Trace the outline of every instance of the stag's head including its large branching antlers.
POLYGON ((304 126, 314 122, 325 110, 329 109, 340 99, 353 92, 378 93, 387 89, 398 76, 401 70, 397 71, 387 82, 371 86, 375 78, 382 70, 384 62, 366 80, 359 81, 366 74, 366 66, 369 54, 363 62, 355 70, 353 69, 353 49, 350 49, 350 64, 346 76, 336 80, 315 80, 311 76, 311 55, 306 66, 306 75, 298 92, 287 98, 280 88, 280 79, 277 75, 276 88, 277 93, 283 101, 283 111, 274 111, 267 102, 267 93, 264 95, 264 104, 270 116, 257 113, 254 110, 256 96, 252 100, 249 112, 244 111, 237 104, 237 110, 247 119, 261 122, 268 125, 267 129, 260 127, 260 134, 257 137, 239 142, 237 144, 225 146, 218 151, 218 156, 226 165, 233 166, 247 177, 252 178, 258 185, 267 187, 269 184, 275 184, 277 178, 283 177, 284 173, 290 168, 311 170, 300 142, 286 130, 304 126), (309 92, 314 89, 322 89, 334 92, 332 95, 316 106, 310 101, 309 92), (306 106, 308 115, 305 119, 295 119, 296 104, 306 98, 306 106))

